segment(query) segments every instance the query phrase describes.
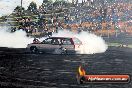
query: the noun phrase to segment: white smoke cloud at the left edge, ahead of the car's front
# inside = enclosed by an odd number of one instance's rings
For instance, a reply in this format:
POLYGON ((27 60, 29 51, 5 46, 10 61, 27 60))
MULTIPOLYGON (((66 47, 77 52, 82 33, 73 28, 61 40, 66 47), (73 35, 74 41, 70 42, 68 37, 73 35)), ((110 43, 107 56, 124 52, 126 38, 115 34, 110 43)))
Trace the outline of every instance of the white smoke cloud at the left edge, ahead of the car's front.
POLYGON ((7 32, 7 28, 0 28, 0 47, 26 48, 27 44, 31 43, 32 40, 22 30, 10 33, 7 32))

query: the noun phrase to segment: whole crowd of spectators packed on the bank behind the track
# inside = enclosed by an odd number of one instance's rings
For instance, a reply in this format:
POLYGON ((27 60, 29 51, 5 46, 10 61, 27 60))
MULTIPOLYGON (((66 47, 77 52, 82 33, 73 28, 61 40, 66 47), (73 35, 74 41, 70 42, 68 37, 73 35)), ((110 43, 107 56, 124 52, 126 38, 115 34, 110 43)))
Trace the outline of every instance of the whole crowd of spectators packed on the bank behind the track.
MULTIPOLYGON (((61 9, 63 14, 45 14, 48 8, 40 7, 38 9, 37 21, 30 18, 22 18, 18 20, 19 29, 25 30, 27 33, 45 33, 50 34, 58 32, 60 29, 70 31, 89 31, 97 32, 102 30, 117 30, 127 32, 132 29, 132 4, 131 3, 112 3, 100 6, 98 8, 91 6, 77 5, 75 7, 66 7, 59 5, 53 9, 61 9), (62 6, 62 7, 61 7, 62 6), (67 8, 66 10, 63 10, 67 8)), ((51 11, 52 11, 51 10, 51 11)), ((112 32, 113 33, 113 32, 112 32)))

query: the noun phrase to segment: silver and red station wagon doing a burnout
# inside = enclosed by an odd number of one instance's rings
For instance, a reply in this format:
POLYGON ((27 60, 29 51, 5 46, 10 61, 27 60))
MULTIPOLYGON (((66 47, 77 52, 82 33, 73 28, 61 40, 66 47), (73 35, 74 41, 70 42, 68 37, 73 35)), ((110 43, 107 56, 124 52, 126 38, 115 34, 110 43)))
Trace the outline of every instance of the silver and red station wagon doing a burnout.
POLYGON ((35 39, 27 48, 32 53, 75 54, 79 53, 81 46, 82 42, 76 37, 49 37, 42 42, 35 39))

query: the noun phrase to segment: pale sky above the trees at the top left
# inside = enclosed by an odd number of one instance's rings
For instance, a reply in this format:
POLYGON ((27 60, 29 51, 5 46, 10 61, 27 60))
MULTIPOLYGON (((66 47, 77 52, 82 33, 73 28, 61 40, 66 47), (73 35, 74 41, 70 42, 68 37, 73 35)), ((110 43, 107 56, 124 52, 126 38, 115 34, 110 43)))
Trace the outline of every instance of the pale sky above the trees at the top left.
MULTIPOLYGON (((23 0, 23 7, 27 9, 32 1, 36 2, 38 6, 43 2, 43 0, 23 0)), ((0 16, 9 15, 18 5, 21 5, 21 0, 0 0, 0 16)))

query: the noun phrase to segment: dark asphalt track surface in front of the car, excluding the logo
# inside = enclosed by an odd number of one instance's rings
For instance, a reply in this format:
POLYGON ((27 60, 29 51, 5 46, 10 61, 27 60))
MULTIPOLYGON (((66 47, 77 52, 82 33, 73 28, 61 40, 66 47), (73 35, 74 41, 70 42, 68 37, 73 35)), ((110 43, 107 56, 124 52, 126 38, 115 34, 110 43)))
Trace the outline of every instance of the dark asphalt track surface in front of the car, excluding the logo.
POLYGON ((77 84, 79 65, 87 74, 132 75, 132 49, 109 47, 101 54, 51 55, 0 48, 0 88, 132 88, 131 81, 77 84))

